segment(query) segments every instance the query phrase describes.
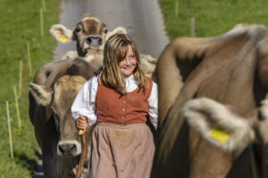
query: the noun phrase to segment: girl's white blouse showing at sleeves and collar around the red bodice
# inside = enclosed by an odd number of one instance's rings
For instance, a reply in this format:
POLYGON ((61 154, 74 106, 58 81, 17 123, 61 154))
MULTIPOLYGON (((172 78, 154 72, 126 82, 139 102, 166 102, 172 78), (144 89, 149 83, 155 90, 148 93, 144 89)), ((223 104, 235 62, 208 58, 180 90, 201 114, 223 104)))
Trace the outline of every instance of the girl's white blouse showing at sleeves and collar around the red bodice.
MULTIPOLYGON (((94 125, 96 123, 96 91, 97 91, 98 79, 97 77, 92 77, 88 82, 86 82, 80 89, 75 100, 71 106, 71 115, 73 119, 77 119, 80 116, 86 116, 90 118, 89 125, 94 125)), ((130 93, 136 90, 138 83, 133 76, 126 77, 126 91, 130 93)), ((158 96, 157 96, 157 85, 153 82, 152 92, 148 98, 149 103, 149 118, 151 123, 157 128, 157 118, 158 118, 158 96)))

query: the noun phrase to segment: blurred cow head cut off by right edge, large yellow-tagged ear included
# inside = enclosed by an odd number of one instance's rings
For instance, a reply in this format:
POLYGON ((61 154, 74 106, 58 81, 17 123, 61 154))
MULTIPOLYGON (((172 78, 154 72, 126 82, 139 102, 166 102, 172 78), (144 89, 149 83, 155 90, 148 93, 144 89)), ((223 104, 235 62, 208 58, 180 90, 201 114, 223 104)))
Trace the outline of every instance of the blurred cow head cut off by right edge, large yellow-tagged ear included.
POLYGON ((250 142, 268 143, 268 101, 262 104, 259 110, 245 112, 212 99, 198 98, 186 102, 182 114, 206 141, 233 151, 244 149, 250 142), (257 119, 257 114, 263 120, 257 119))

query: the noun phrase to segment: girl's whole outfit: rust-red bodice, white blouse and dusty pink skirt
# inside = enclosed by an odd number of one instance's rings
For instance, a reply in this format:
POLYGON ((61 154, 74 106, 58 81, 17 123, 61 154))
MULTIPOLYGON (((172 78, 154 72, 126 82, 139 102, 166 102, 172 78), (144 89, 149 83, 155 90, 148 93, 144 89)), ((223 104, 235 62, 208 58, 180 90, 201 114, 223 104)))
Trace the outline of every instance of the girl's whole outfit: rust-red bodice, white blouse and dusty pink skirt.
POLYGON ((146 124, 157 127, 157 85, 139 88, 134 77, 126 78, 125 95, 98 85, 97 77, 83 85, 72 104, 74 119, 90 118, 96 124, 88 166, 90 178, 147 178, 155 145, 146 124))

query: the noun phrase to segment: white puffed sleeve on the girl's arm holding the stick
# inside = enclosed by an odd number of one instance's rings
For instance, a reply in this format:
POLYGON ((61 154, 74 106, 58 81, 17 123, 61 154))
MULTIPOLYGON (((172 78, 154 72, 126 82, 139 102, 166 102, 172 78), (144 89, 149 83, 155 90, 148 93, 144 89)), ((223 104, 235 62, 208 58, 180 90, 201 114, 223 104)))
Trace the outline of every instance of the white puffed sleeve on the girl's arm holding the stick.
POLYGON ((74 120, 80 116, 85 116, 90 119, 89 125, 96 123, 95 101, 97 85, 97 77, 92 77, 81 87, 71 105, 71 116, 74 120))

